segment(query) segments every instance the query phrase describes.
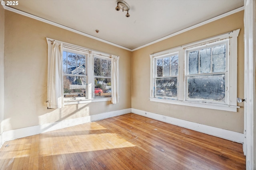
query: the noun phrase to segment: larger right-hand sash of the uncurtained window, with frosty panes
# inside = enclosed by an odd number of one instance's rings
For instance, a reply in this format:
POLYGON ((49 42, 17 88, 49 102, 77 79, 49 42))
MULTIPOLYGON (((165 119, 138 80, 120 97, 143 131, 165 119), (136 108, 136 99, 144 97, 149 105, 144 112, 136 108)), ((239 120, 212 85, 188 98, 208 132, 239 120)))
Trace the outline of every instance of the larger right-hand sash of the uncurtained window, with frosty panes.
POLYGON ((227 103, 228 40, 186 50, 186 100, 227 103))

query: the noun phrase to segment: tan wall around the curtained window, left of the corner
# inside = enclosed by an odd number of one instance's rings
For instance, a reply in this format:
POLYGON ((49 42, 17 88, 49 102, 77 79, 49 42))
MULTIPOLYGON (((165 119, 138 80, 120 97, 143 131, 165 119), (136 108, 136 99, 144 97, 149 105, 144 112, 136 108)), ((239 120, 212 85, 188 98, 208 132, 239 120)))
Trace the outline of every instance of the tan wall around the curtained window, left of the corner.
POLYGON ((131 107, 131 51, 7 10, 5 30, 4 131, 131 107), (120 56, 120 102, 47 109, 46 37, 120 56))

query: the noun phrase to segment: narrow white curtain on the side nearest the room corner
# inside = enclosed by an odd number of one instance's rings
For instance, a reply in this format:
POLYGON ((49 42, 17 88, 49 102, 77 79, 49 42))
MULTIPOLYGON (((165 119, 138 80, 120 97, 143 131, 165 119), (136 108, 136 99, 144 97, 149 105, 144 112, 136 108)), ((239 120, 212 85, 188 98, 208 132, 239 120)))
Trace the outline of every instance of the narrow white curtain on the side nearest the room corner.
POLYGON ((111 88, 112 88, 112 99, 113 104, 118 103, 118 67, 119 67, 119 56, 111 56, 111 88))

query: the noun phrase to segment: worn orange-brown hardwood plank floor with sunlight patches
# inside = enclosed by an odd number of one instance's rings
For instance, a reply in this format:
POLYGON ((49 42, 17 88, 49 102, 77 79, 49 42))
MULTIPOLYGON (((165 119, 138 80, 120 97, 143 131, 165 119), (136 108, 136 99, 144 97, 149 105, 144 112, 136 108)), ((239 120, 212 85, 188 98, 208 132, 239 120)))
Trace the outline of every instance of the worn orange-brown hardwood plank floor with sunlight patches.
POLYGON ((0 149, 0 168, 245 170, 246 166, 240 143, 129 113, 7 141, 0 149))

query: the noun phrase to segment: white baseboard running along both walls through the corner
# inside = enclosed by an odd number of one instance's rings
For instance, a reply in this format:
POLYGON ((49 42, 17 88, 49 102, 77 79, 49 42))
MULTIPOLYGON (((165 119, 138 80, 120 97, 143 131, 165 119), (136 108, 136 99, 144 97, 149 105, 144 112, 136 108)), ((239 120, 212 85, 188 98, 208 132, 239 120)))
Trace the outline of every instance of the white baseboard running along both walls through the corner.
POLYGON ((36 134, 40 134, 40 133, 44 133, 44 132, 48 132, 48 131, 62 129, 62 128, 70 127, 70 126, 74 126, 74 125, 80 125, 83 123, 97 121, 100 119, 106 119, 109 117, 123 115, 126 113, 135 113, 138 115, 142 115, 145 117, 149 117, 152 119, 170 123, 173 125, 178 125, 180 127, 192 129, 194 131, 199 131, 199 132, 213 135, 216 137, 221 137, 223 139, 228 139, 230 141, 244 143, 244 134, 243 133, 229 131, 226 129, 220 129, 220 128, 212 127, 212 126, 208 126, 208 125, 202 125, 199 123, 185 121, 182 119, 177 119, 177 118, 168 117, 168 116, 166 116, 166 119, 162 119, 163 115, 151 113, 151 112, 143 111, 143 110, 139 110, 139 109, 129 108, 129 109, 122 109, 122 110, 118 110, 118 111, 110 111, 110 112, 101 113, 101 114, 97 114, 97 115, 90 115, 90 116, 86 116, 86 117, 79 117, 76 119, 69 119, 69 120, 63 120, 63 121, 58 121, 58 122, 54 122, 54 123, 47 123, 44 125, 36 125, 36 126, 31 126, 31 127, 24 127, 21 129, 4 131, 2 134, 0 134, 0 148, 2 147, 2 145, 4 144, 5 141, 10 141, 13 139, 18 139, 18 138, 36 135, 36 134), (147 114, 145 114, 145 113, 147 113, 147 114))

